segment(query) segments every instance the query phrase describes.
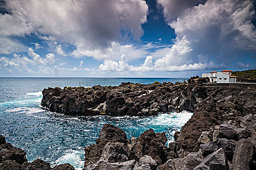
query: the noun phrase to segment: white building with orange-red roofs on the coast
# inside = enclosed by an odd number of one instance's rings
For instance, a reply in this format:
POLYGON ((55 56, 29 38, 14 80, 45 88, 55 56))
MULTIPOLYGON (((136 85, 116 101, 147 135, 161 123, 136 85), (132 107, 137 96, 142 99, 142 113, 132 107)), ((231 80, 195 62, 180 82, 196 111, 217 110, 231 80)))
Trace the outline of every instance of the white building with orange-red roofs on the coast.
POLYGON ((227 69, 221 72, 203 73, 202 77, 209 77, 211 83, 235 83, 237 78, 237 76, 232 76, 232 71, 227 69))

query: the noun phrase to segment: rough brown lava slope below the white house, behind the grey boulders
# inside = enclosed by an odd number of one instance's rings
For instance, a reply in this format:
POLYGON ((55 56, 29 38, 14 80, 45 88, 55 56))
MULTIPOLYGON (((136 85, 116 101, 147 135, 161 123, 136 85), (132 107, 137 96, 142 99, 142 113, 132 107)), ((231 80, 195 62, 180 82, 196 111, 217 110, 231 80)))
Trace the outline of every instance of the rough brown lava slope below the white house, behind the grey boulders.
MULTIPOLYGON (((195 85, 196 88, 199 88, 198 86, 195 85)), ((249 129, 243 128, 245 124, 251 129, 255 127, 250 123, 256 113, 255 90, 225 86, 202 87, 201 90, 201 93, 207 95, 197 102, 192 118, 174 136, 178 148, 182 148, 184 152, 197 152, 200 144, 209 141, 209 138, 238 140, 252 136, 249 129), (250 116, 241 119, 246 115, 250 116), (236 125, 227 125, 229 121, 235 121, 236 125), (241 126, 237 126, 239 122, 241 126)))

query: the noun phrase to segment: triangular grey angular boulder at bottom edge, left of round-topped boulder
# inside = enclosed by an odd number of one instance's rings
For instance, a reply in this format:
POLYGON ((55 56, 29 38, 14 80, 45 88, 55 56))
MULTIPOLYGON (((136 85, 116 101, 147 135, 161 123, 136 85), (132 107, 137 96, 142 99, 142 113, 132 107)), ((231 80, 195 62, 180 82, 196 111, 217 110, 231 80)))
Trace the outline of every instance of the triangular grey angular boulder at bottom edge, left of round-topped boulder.
POLYGON ((206 156, 194 170, 229 170, 228 160, 222 148, 206 156))

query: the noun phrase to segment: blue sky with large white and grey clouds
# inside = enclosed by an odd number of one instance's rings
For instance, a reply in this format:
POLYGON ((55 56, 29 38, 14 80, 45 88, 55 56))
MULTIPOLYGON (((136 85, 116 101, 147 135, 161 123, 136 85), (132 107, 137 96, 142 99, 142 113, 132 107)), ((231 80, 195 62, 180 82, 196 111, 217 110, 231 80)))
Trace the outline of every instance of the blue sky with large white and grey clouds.
POLYGON ((0 77, 256 68, 253 0, 0 0, 0 77))

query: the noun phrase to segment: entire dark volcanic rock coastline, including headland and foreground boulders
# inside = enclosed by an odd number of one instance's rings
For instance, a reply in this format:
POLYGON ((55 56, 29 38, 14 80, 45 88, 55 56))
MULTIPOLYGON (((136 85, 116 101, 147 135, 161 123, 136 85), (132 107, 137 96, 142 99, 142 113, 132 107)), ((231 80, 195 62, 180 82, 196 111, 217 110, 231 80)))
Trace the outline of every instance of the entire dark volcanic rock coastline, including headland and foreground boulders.
MULTIPOLYGON (((208 81, 192 77, 188 83, 176 84, 48 88, 43 90, 42 106, 66 115, 85 116, 193 112, 169 147, 165 133, 149 129, 128 139, 122 129, 105 124, 96 144, 85 148, 84 170, 255 170, 256 90, 204 86, 208 81)), ((42 160, 28 163, 21 149, 13 152, 12 148, 1 136, 0 170, 51 169, 37 168, 42 160)), ((73 168, 60 166, 62 170, 73 168)))

